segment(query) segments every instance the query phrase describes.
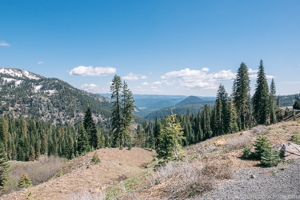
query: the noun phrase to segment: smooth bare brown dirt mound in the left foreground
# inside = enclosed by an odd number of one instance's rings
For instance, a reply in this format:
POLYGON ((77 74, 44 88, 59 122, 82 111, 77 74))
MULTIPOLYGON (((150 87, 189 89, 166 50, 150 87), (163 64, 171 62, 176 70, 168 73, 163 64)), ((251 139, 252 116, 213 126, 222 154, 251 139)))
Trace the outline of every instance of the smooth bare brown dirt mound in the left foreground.
MULTIPOLYGON (((30 188, 31 191, 36 190, 31 199, 66 199, 70 193, 82 189, 100 191, 141 172, 155 155, 154 150, 141 148, 102 148, 98 149, 97 153, 101 162, 95 165, 90 164, 93 152, 64 163, 64 175, 30 188)), ((13 192, 0 199, 26 199, 22 195, 25 191, 24 189, 13 192)))

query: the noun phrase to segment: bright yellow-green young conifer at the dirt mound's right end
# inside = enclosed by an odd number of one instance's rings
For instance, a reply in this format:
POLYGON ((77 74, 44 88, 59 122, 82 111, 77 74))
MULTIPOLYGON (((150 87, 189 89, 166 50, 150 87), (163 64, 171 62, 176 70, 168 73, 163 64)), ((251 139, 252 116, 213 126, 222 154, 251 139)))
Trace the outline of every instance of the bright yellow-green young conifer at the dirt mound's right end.
POLYGON ((167 124, 162 127, 158 136, 156 152, 165 160, 178 159, 181 150, 181 140, 184 139, 180 123, 176 123, 175 114, 168 116, 167 124))

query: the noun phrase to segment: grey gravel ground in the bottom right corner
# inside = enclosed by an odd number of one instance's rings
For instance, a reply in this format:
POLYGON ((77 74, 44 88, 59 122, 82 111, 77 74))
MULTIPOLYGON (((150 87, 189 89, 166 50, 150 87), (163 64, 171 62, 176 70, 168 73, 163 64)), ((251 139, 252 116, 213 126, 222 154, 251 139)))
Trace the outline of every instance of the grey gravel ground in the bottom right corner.
POLYGON ((219 188, 192 199, 300 199, 299 163, 296 159, 274 167, 247 167, 219 188))

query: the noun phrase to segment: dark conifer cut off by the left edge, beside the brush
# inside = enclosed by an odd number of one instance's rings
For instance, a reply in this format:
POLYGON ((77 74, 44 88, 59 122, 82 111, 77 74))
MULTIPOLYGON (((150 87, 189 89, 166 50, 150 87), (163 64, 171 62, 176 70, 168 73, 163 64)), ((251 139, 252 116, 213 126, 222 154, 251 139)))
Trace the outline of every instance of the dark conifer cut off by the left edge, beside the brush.
POLYGON ((6 180, 8 180, 9 176, 8 176, 8 159, 7 159, 7 155, 4 149, 4 145, 2 142, 0 142, 0 193, 1 190, 3 190, 3 186, 6 182, 6 180))

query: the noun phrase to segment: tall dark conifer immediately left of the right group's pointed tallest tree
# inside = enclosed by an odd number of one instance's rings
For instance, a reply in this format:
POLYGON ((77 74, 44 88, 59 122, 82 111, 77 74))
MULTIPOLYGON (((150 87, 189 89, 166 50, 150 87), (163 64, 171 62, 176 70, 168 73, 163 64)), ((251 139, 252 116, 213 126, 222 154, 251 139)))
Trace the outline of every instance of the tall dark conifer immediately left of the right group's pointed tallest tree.
POLYGON ((241 62, 232 86, 233 102, 238 112, 241 130, 250 126, 250 90, 248 67, 241 62))

